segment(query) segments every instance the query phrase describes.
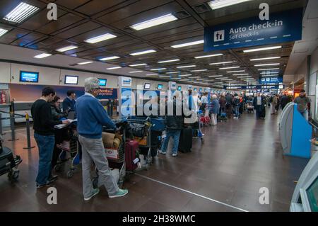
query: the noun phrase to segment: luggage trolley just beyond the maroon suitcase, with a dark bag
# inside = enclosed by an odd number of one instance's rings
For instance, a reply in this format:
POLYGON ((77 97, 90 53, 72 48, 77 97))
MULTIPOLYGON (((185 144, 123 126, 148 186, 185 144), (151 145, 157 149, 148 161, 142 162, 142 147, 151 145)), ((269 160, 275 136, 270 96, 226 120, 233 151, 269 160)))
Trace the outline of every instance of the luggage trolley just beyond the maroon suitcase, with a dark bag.
POLYGON ((126 121, 131 125, 141 124, 146 125, 146 132, 144 137, 134 137, 134 140, 139 142, 139 154, 143 154, 144 159, 141 160, 141 168, 148 170, 152 162, 151 157, 151 119, 144 116, 128 116, 126 121))

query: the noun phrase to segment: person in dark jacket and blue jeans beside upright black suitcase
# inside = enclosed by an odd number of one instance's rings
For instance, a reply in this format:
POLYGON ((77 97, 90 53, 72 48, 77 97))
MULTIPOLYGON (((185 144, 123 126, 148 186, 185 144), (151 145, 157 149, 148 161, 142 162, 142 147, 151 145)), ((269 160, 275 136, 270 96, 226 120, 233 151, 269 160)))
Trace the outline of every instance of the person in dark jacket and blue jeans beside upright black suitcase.
MULTIPOLYGON (((171 103, 167 106, 170 107, 171 103)), ((179 146, 179 138, 182 130, 182 125, 184 118, 182 117, 182 101, 179 99, 179 91, 175 92, 175 96, 173 97, 173 114, 170 115, 170 111, 167 112, 167 116, 165 118, 165 128, 166 128, 166 137, 163 141, 163 149, 161 149, 161 154, 166 154, 167 145, 169 143, 170 137, 173 138, 173 147, 172 147, 172 156, 176 157, 178 154, 178 146, 179 146), (178 112, 179 111, 179 112, 178 112)))

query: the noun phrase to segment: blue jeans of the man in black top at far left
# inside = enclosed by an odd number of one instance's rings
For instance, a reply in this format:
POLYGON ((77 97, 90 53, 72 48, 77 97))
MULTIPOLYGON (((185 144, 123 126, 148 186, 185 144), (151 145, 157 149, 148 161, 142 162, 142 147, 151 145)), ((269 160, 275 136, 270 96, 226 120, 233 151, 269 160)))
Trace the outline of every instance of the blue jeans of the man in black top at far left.
POLYGON ((47 183, 51 176, 51 161, 55 143, 54 135, 43 136, 34 134, 37 147, 39 148, 39 169, 37 171, 37 184, 42 185, 47 183))

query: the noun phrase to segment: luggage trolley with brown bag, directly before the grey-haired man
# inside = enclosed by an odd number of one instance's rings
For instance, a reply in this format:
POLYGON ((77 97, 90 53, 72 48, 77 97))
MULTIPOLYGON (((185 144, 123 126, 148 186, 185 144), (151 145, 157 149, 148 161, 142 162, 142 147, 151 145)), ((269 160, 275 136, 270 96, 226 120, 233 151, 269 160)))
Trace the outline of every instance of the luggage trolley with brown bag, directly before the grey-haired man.
MULTIPOLYGON (((122 140, 120 142, 118 149, 105 148, 108 166, 112 170, 112 176, 114 176, 114 179, 117 181, 119 188, 122 188, 122 185, 124 183, 124 177, 126 176, 126 164, 125 164, 126 128, 124 125, 120 127, 119 130, 121 128, 122 128, 122 134, 120 136, 122 137, 122 140)), ((110 130, 107 128, 104 128, 103 132, 115 133, 114 130, 110 130)), ((98 176, 98 169, 96 167, 95 167, 95 172, 96 172, 96 175, 93 177, 93 187, 99 188, 100 186, 102 186, 102 183, 98 181, 99 176, 98 176)))

